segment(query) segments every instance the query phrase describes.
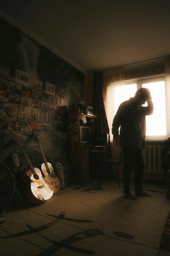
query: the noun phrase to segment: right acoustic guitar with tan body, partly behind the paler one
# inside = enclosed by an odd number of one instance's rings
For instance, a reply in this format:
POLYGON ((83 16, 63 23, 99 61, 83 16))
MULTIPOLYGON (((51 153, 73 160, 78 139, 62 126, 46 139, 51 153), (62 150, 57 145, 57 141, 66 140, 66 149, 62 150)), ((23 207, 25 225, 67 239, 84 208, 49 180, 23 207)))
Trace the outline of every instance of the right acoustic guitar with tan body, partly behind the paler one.
POLYGON ((50 185, 53 189, 53 193, 56 193, 60 190, 60 181, 54 174, 52 164, 47 162, 44 151, 41 146, 41 143, 39 142, 38 138, 36 137, 36 135, 34 133, 33 133, 33 137, 34 137, 36 143, 38 143, 38 145, 39 145, 41 155, 44 160, 44 163, 42 163, 42 165, 41 165, 41 170, 44 173, 45 179, 48 180, 48 182, 50 183, 50 185))

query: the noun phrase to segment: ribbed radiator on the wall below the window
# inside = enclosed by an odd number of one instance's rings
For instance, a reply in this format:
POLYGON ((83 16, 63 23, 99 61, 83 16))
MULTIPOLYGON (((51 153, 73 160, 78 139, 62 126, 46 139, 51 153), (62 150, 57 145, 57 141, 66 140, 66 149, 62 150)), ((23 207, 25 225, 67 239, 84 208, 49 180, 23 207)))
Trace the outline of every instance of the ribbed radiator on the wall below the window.
POLYGON ((143 150, 145 171, 148 173, 163 173, 163 147, 161 145, 147 145, 143 150))

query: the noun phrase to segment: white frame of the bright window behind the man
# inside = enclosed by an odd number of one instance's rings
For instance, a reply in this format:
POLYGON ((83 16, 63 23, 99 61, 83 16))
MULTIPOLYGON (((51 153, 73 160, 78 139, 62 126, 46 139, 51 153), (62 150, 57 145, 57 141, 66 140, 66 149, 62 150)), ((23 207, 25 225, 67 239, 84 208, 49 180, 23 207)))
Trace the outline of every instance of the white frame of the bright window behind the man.
MULTIPOLYGON (((129 79, 125 80, 125 86, 128 84, 136 83, 136 88, 139 90, 142 87, 142 83, 149 83, 149 82, 158 82, 158 81, 165 81, 165 74, 160 74, 156 76, 148 76, 148 77, 139 77, 135 79, 129 79)), ((165 96, 165 106, 167 111, 167 104, 168 100, 165 96)), ((170 137, 170 118, 168 113, 166 112, 166 135, 164 136, 146 136, 145 141, 146 142, 163 142, 163 140, 166 140, 170 137)))

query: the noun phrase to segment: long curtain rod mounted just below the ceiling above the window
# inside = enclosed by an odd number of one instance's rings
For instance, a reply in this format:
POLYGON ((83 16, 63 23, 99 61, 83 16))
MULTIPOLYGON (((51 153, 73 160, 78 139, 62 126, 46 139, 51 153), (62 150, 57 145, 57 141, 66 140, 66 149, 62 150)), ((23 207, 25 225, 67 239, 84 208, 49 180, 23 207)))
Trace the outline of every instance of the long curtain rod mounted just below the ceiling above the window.
POLYGON ((144 60, 144 61, 134 62, 134 63, 131 63, 131 64, 122 65, 122 66, 102 69, 102 70, 99 70, 99 71, 107 73, 107 72, 112 72, 112 71, 120 69, 120 68, 124 68, 124 70, 132 70, 132 69, 137 69, 139 66, 140 67, 154 66, 154 65, 163 64, 164 60, 168 59, 168 58, 170 58, 170 55, 160 57, 160 58, 156 58, 156 59, 144 60))

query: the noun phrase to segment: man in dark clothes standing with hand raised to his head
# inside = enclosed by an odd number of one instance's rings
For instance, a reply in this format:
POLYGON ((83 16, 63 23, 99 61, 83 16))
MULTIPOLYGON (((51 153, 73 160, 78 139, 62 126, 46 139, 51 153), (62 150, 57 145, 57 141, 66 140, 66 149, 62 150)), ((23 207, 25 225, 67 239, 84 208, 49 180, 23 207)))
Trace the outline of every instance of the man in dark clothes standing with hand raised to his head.
POLYGON ((140 88, 134 97, 120 104, 112 124, 113 144, 123 149, 123 192, 128 199, 131 194, 130 176, 135 167, 135 195, 151 196, 143 191, 145 163, 143 149, 146 148, 146 115, 153 114, 153 102, 148 88, 140 88), (147 101, 148 106, 143 107, 147 101), (120 135, 119 135, 120 127, 120 135))

